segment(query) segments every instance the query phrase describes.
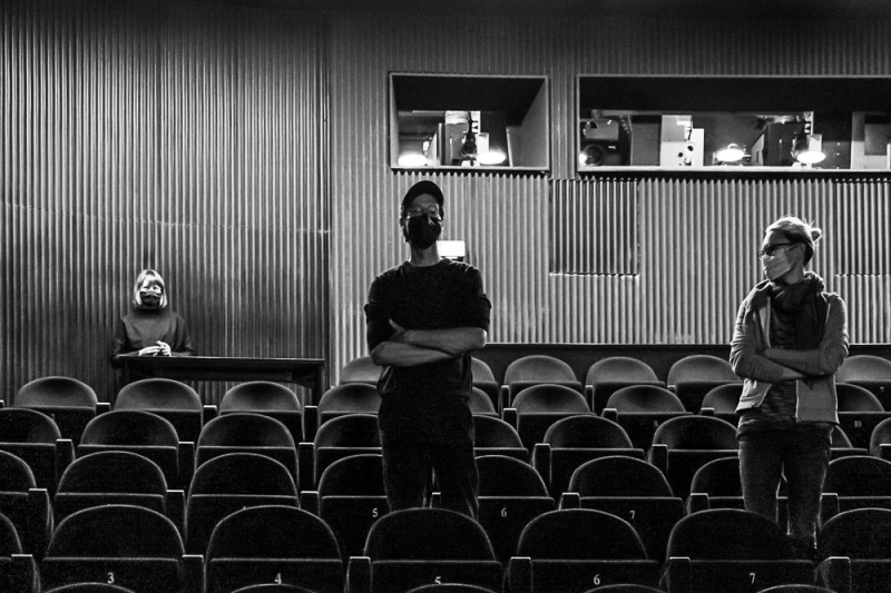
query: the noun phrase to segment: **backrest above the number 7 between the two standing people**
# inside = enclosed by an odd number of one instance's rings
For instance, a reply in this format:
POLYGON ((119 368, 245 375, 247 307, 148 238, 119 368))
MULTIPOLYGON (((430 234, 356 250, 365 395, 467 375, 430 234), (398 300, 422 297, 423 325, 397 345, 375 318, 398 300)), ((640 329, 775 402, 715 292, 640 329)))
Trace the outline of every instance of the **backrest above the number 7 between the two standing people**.
POLYGON ((572 472, 569 492, 579 496, 673 496, 672 486, 658 467, 625 455, 581 464, 572 472))

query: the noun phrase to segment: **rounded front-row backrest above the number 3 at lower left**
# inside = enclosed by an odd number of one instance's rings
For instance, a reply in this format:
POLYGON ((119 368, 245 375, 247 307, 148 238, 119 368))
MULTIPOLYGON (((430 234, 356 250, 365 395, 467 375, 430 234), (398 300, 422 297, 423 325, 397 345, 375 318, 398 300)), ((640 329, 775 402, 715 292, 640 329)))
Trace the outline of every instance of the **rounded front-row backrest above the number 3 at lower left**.
POLYGON ((141 506, 111 504, 77 511, 59 523, 47 557, 182 559, 173 522, 141 506))

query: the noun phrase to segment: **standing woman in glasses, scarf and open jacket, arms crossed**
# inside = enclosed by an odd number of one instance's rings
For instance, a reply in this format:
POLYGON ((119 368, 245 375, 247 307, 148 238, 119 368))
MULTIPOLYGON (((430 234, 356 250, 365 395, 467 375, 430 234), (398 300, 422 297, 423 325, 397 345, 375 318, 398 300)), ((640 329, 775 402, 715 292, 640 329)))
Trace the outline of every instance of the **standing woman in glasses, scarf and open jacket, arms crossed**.
POLYGON ((745 379, 736 408, 745 507, 776 521, 785 476, 787 533, 810 560, 839 423, 834 374, 848 356, 844 302, 806 269, 821 234, 794 217, 767 227, 758 251, 766 279, 740 306, 731 345, 731 364, 745 379))

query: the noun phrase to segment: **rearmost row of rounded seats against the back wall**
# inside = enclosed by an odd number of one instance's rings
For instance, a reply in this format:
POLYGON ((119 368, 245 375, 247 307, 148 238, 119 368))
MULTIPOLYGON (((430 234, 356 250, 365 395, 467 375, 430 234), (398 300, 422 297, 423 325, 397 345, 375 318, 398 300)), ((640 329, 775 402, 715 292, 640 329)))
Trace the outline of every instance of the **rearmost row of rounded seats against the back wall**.
MULTIPOLYGON (((550 355, 520 357, 508 365, 503 379, 496 379, 491 368, 473 358, 473 385, 489 395, 498 412, 509 407, 517 394, 530 385, 550 383, 578 391, 585 396, 588 408, 600 414, 608 406, 609 396, 629 385, 665 387, 679 398, 687 412, 703 407, 705 395, 719 385, 740 383, 727 360, 709 355, 689 355, 675 362, 664 378, 645 362, 628 356, 609 356, 591 364, 579 380, 572 368, 550 355)), ((369 356, 362 356, 343 366, 340 383, 375 384, 381 367, 369 356)), ((891 412, 891 360, 873 356, 848 357, 835 376, 838 383, 850 383, 873 393, 881 409, 891 412)))

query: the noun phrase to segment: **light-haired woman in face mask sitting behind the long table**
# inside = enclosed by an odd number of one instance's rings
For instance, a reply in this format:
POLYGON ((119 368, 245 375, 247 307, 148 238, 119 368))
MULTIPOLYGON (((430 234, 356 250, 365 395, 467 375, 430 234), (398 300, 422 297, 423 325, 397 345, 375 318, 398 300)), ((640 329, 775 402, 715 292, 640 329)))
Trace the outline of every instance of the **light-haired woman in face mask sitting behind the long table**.
POLYGON ((168 308, 164 278, 154 269, 144 269, 133 287, 131 313, 115 327, 112 364, 121 355, 192 356, 192 336, 185 319, 168 308))

